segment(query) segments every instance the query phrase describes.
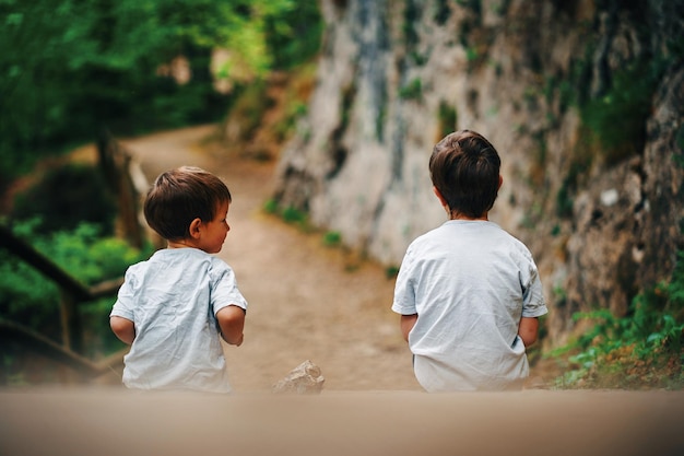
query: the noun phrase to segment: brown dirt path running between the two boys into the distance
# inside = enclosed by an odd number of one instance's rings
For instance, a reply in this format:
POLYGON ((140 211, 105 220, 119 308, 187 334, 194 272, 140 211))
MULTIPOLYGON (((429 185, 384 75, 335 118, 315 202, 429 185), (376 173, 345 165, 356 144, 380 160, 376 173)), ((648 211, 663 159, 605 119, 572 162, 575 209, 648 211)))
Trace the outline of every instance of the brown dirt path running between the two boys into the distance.
POLYGON ((305 360, 326 377, 325 389, 412 389, 411 358, 389 309, 393 280, 303 234, 261 208, 271 195, 274 163, 222 155, 214 127, 162 132, 123 144, 150 180, 182 164, 220 175, 231 188, 231 232, 220 256, 234 269, 249 302, 245 343, 228 347, 234 388, 263 390, 305 360))

